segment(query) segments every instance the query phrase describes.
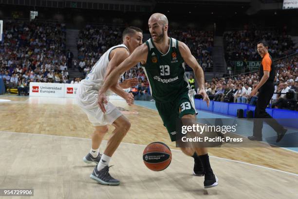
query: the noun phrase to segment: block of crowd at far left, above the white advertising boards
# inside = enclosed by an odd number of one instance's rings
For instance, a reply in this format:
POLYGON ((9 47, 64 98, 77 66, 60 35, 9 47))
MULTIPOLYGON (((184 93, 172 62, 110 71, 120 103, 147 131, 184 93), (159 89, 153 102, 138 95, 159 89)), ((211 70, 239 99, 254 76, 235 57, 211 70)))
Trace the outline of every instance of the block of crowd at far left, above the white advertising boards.
POLYGON ((65 24, 5 21, 0 76, 5 86, 27 91, 30 82, 68 82, 65 24))

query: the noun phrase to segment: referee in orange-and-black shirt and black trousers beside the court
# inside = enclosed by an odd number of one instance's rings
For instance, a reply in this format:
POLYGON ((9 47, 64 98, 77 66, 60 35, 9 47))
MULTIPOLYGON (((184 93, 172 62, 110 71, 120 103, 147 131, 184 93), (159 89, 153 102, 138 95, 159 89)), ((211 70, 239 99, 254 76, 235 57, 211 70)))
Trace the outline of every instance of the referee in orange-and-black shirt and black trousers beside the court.
POLYGON ((251 96, 256 95, 259 90, 257 106, 255 109, 254 129, 253 136, 249 136, 249 140, 262 141, 262 127, 265 121, 277 132, 278 143, 286 133, 287 129, 282 127, 275 119, 273 119, 267 112, 266 107, 268 106, 273 93, 274 93, 274 77, 275 77, 275 66, 272 62, 272 57, 268 53, 268 44, 264 41, 258 42, 257 45, 258 53, 262 57, 260 70, 259 70, 259 84, 254 90, 251 91, 251 96), (264 120, 267 118, 266 120, 264 120))

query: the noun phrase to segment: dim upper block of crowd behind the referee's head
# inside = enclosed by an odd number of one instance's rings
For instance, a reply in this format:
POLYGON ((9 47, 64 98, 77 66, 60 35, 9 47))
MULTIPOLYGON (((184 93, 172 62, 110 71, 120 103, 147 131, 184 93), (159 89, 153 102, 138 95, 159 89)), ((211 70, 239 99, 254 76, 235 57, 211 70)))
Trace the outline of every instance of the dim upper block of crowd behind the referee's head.
POLYGON ((262 40, 268 43, 268 52, 274 59, 298 52, 286 29, 260 30, 245 25, 243 30, 225 32, 223 40, 228 65, 232 65, 232 61, 259 61, 257 42, 262 40))

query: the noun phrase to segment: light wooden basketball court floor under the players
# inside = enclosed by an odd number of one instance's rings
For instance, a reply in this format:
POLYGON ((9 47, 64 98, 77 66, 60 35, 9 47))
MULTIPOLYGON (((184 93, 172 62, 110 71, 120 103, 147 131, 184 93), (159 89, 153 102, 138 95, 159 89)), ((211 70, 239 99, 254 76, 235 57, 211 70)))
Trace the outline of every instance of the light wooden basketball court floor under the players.
POLYGON ((204 178, 191 176, 192 159, 178 150, 172 150, 173 161, 165 171, 150 171, 142 161, 144 145, 160 141, 175 149, 175 144, 156 110, 129 107, 123 101, 113 103, 130 119, 131 129, 111 168, 122 183, 101 186, 89 179, 93 165, 81 161, 89 151, 93 126, 73 99, 0 99, 11 100, 0 102, 0 188, 34 187, 41 199, 298 198, 298 153, 282 148, 210 148, 219 186, 208 190, 203 188, 204 178))

